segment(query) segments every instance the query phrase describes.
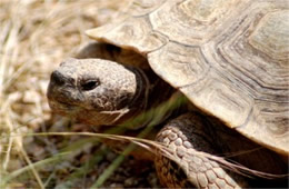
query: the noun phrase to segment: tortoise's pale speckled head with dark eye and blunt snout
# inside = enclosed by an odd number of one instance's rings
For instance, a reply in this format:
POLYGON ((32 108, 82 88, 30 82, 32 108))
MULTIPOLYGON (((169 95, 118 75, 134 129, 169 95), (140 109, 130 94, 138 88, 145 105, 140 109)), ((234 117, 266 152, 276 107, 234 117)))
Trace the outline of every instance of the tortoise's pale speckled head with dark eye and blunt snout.
POLYGON ((134 68, 102 59, 67 59, 48 87, 51 109, 93 125, 116 123, 137 106, 143 79, 134 68))

